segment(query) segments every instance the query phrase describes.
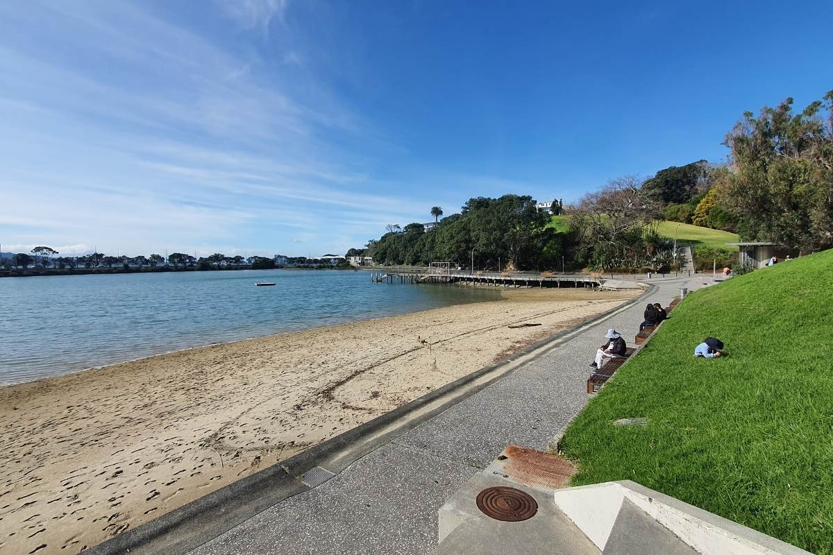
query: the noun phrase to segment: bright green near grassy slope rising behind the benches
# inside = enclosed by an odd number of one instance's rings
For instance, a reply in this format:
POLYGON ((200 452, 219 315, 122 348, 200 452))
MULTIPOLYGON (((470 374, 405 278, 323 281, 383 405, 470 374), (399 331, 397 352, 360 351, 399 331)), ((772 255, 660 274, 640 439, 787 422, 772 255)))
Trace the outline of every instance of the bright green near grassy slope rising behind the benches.
POLYGON ((831 307, 833 250, 696 291, 567 430, 574 483, 631 479, 833 554, 831 307), (707 335, 729 356, 694 359, 707 335))

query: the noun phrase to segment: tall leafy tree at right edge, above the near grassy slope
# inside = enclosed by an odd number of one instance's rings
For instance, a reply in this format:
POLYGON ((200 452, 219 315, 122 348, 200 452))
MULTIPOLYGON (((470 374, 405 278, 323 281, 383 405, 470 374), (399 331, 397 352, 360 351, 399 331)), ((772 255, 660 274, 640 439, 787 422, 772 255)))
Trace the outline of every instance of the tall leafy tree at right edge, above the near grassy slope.
POLYGON ((801 250, 833 246, 833 91, 799 114, 792 98, 747 111, 726 135, 731 173, 722 205, 745 240, 801 250), (826 113, 825 113, 826 112, 826 113))

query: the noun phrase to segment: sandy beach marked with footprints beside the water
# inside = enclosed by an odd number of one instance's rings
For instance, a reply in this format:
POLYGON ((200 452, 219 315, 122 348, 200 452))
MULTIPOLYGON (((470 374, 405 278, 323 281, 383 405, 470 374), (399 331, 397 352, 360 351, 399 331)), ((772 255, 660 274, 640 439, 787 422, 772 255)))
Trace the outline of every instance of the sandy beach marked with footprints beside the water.
POLYGON ((2 388, 0 552, 79 553, 633 295, 506 291, 2 388))

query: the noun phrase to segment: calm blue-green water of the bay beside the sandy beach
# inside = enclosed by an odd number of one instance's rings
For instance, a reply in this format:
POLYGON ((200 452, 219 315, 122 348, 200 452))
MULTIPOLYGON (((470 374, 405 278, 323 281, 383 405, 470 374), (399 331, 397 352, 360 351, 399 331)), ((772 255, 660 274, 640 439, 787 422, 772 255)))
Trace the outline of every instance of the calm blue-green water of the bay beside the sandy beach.
POLYGON ((372 284, 339 270, 242 270, 0 279, 0 384, 174 349, 343 324, 498 293, 372 284), (274 281, 274 287, 255 287, 274 281))

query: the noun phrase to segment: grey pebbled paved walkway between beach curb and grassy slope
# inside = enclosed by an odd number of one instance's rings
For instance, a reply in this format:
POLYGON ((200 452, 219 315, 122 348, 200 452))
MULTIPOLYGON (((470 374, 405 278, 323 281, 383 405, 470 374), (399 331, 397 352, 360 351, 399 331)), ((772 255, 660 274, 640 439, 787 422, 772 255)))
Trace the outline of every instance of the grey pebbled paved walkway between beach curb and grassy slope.
POLYGON ((650 296, 567 334, 494 384, 352 463, 321 486, 232 528, 192 555, 428 553, 437 511, 508 444, 546 449, 587 402, 587 364, 608 328, 629 344, 647 302, 667 305, 681 286, 656 280, 650 296))

